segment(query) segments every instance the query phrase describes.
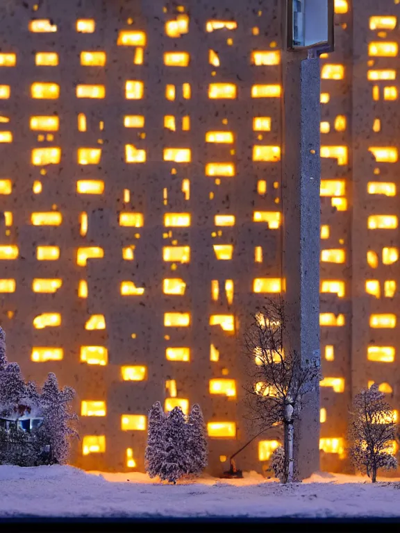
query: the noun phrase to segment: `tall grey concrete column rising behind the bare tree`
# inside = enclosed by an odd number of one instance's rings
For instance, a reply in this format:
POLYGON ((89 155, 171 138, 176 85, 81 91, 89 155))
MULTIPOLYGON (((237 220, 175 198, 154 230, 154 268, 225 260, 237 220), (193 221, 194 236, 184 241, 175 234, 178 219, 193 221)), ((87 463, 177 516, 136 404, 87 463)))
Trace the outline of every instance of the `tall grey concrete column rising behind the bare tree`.
MULTIPOLYGON (((283 278, 289 342, 306 359, 319 352, 319 59, 283 58, 283 278)), ((319 389, 306 395, 294 457, 299 475, 319 469, 319 389)))

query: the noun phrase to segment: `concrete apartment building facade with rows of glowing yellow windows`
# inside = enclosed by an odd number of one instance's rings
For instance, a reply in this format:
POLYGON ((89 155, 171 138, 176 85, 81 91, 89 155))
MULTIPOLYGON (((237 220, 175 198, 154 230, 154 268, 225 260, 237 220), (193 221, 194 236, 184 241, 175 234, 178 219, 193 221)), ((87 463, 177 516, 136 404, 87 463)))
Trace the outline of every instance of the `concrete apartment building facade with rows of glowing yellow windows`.
MULTIPOLYGON (((242 335, 282 281, 281 0, 1 3, 8 357, 76 389, 72 463, 144 470, 149 407, 200 403, 210 472, 254 434, 242 335)), ((322 468, 399 403, 399 0, 335 0, 321 59, 322 468)), ((255 363, 256 364, 256 363, 255 363)), ((240 455, 262 472, 281 438, 240 455)))

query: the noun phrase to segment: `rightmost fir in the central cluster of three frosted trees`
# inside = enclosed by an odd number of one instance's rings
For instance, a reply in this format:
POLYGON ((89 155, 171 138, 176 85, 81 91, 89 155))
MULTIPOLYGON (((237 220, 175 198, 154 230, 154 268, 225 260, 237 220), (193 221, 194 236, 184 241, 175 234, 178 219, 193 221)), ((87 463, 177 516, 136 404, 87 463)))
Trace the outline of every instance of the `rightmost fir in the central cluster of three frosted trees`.
POLYGON ((206 424, 198 403, 192 406, 186 427, 189 474, 200 475, 208 464, 206 424))

